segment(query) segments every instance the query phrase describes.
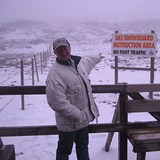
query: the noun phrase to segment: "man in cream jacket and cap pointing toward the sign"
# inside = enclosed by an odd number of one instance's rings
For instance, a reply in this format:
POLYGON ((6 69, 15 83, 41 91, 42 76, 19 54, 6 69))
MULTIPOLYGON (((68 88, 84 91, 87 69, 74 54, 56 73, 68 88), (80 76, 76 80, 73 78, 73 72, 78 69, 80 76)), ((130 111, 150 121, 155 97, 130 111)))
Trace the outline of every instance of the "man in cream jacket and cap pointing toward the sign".
POLYGON ((53 42, 56 62, 46 80, 48 104, 55 111, 59 141, 56 160, 69 160, 73 143, 78 160, 89 160, 88 124, 99 116, 88 74, 103 56, 71 55, 65 38, 53 42))

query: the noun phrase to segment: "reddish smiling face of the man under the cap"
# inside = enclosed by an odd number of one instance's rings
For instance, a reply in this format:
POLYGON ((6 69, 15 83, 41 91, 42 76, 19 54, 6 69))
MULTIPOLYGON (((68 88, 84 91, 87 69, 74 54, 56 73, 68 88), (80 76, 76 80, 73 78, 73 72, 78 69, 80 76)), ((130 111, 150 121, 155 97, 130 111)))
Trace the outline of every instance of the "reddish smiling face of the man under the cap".
POLYGON ((71 57, 71 47, 60 46, 55 50, 57 58, 62 61, 67 61, 71 57))

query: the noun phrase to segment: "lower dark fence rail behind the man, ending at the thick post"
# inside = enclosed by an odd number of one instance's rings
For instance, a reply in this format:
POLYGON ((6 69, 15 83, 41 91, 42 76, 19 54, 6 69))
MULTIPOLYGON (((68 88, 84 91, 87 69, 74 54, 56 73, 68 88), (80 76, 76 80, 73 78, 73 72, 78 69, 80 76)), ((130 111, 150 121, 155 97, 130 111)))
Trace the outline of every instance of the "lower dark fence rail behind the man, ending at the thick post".
MULTIPOLYGON (((124 129, 122 124, 90 124, 89 133, 120 132, 124 129)), ((33 135, 57 135, 58 130, 55 125, 49 126, 14 126, 0 127, 0 136, 33 136, 33 135)))

